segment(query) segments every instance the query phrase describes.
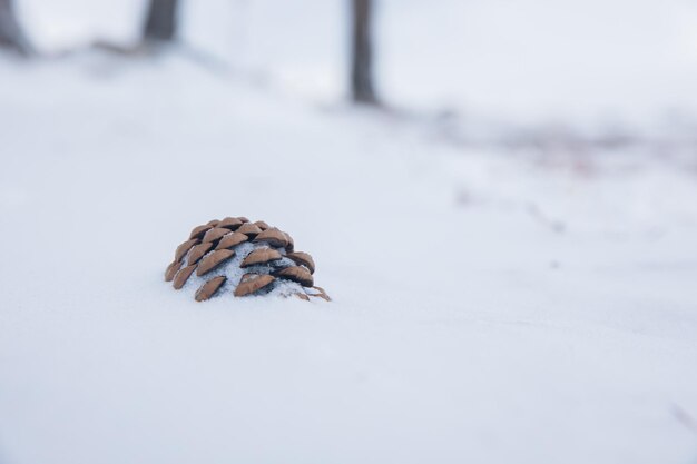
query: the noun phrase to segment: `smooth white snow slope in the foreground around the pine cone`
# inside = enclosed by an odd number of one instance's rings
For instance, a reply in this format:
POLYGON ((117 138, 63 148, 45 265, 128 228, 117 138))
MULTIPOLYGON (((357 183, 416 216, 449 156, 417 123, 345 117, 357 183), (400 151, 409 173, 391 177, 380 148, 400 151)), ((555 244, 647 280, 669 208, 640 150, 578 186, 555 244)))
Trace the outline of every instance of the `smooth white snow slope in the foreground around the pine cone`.
POLYGON ((0 65, 2 464, 697 460, 694 152, 458 145, 186 55, 0 65), (225 216, 334 302, 173 290, 225 216))

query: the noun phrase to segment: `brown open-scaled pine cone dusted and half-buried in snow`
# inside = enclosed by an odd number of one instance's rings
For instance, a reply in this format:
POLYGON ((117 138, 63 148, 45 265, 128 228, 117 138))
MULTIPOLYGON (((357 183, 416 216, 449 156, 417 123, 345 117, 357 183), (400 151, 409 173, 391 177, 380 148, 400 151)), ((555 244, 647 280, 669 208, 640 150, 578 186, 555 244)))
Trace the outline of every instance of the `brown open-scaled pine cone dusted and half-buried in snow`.
POLYGON ((198 288, 197 302, 229 293, 296 296, 331 300, 314 286, 315 263, 306 253, 295 251, 291 236, 263 220, 226 217, 195 227, 179 245, 165 280, 175 289, 198 288))

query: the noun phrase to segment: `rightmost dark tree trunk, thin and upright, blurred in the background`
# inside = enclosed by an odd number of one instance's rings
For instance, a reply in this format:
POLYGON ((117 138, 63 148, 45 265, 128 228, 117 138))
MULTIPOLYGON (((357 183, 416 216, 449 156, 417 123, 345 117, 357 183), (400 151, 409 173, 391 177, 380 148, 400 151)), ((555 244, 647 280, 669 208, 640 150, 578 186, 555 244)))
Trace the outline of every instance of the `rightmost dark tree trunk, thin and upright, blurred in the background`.
POLYGON ((359 103, 377 102, 373 86, 372 0, 351 0, 353 13, 351 47, 351 93, 359 103))

